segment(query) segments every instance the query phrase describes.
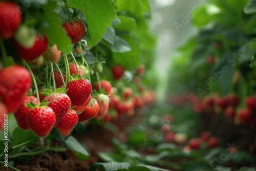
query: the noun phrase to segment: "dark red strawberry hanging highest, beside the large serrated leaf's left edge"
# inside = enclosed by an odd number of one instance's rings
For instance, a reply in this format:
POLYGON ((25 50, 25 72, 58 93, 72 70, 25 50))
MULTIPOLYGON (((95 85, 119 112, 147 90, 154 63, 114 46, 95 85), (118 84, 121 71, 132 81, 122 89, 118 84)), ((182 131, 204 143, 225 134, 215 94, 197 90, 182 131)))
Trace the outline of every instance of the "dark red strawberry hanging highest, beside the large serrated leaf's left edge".
POLYGON ((86 27, 80 19, 68 18, 63 21, 63 28, 67 31, 67 34, 72 39, 72 44, 76 44, 80 41, 84 34, 86 34, 86 27))

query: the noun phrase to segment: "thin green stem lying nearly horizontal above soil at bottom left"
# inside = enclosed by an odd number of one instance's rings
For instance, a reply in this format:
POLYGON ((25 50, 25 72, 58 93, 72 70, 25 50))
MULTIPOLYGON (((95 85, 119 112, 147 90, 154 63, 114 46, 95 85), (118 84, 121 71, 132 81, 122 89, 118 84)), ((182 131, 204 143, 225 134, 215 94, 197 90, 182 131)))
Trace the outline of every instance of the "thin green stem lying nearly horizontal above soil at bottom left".
POLYGON ((66 148, 65 147, 46 147, 43 148, 39 151, 35 151, 35 152, 24 152, 24 153, 18 153, 12 156, 9 156, 9 159, 15 159, 15 158, 19 158, 19 157, 30 157, 30 156, 35 156, 35 155, 39 155, 41 153, 45 153, 47 151, 54 151, 54 152, 65 152, 66 148))

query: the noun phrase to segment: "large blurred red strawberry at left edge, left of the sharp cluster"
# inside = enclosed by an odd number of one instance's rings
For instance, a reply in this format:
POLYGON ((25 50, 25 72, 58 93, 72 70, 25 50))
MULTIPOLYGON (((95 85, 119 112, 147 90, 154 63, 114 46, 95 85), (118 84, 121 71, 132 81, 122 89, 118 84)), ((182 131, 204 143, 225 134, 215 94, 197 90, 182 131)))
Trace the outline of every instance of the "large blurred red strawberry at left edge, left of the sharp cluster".
POLYGON ((31 75, 26 68, 13 65, 1 70, 0 78, 0 99, 2 98, 8 113, 14 112, 31 88, 31 75))

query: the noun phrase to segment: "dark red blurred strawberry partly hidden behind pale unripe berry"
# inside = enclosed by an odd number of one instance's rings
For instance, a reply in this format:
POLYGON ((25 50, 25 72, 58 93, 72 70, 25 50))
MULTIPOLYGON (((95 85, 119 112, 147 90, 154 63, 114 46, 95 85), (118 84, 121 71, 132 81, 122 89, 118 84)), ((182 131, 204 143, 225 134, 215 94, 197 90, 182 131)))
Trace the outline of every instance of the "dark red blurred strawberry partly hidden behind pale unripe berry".
POLYGON ((35 42, 31 48, 24 48, 22 45, 19 45, 17 41, 13 41, 13 45, 20 58, 23 58, 27 61, 34 60, 40 55, 44 54, 48 47, 48 38, 46 35, 42 34, 42 38, 36 34, 35 42))

